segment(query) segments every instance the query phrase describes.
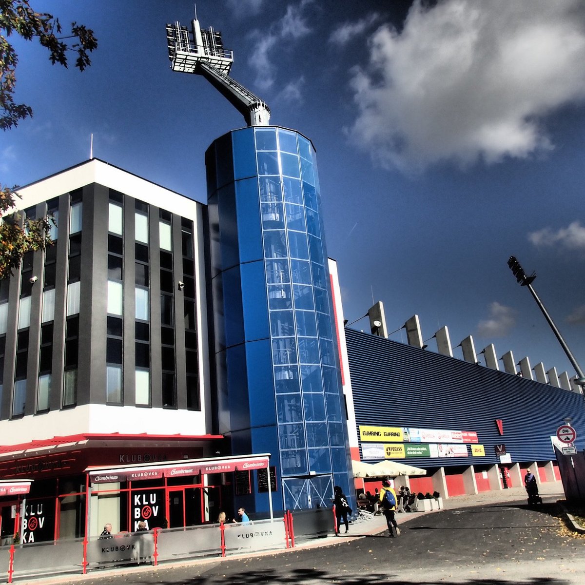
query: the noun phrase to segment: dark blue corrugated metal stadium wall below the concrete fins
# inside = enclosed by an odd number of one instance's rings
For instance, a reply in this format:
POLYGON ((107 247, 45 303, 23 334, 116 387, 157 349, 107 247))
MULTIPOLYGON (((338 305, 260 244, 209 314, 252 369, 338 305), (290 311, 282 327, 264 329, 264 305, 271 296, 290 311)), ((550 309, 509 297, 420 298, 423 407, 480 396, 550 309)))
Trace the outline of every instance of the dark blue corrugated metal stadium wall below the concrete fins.
POLYGON ((565 417, 573 419, 577 450, 585 446, 580 394, 353 329, 345 335, 358 426, 476 431, 486 451, 485 457, 412 457, 408 463, 493 465, 501 443, 512 463, 555 460, 550 435, 565 417), (495 419, 503 419, 504 435, 495 419))

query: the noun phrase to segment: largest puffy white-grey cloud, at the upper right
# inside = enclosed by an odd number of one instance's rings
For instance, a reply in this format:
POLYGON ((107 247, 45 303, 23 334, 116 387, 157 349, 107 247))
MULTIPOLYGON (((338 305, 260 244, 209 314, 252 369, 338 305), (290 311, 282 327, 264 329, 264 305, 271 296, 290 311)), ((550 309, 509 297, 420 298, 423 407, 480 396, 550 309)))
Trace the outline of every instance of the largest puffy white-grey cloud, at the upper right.
POLYGON ((581 0, 417 0, 352 71, 353 139, 384 167, 494 163, 552 144, 542 116, 585 98, 581 0))

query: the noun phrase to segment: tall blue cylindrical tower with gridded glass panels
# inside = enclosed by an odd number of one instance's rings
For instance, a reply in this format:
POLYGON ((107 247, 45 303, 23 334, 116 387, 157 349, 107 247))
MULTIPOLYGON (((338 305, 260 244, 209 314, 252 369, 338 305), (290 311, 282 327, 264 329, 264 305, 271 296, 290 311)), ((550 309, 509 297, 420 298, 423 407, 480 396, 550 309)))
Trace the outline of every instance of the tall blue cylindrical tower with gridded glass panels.
MULTIPOLYGON (((206 166, 218 430, 233 453, 271 453, 275 508, 329 507, 353 488, 315 150, 255 126, 206 166)), ((267 510, 253 486, 240 501, 267 510)))

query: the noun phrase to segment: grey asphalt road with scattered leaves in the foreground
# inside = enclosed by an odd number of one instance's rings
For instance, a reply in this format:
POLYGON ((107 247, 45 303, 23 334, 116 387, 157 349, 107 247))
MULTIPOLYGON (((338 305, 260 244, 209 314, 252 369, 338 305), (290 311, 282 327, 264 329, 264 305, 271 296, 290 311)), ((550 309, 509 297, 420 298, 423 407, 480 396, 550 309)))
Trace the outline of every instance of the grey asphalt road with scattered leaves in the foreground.
MULTIPOLYGON (((413 515, 399 538, 369 535, 329 546, 182 566, 119 569, 81 581, 106 585, 583 585, 585 538, 567 530, 558 505, 528 508, 526 500, 413 515)), ((367 524, 350 527, 350 535, 367 524)), ((331 542, 331 541, 329 541, 331 542)))

